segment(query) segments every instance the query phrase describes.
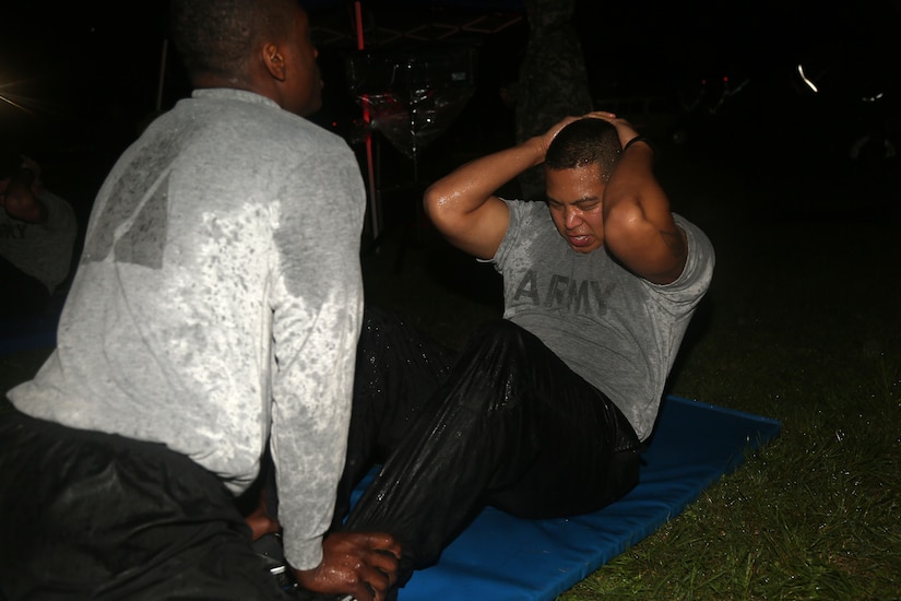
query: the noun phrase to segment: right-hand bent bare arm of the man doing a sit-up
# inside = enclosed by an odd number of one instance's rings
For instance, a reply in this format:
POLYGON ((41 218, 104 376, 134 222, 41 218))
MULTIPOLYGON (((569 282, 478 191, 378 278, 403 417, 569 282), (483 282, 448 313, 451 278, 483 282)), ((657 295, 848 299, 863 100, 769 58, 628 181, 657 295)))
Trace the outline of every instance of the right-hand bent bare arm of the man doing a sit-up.
MULTIPOLYGON (((624 146, 638 137, 609 113, 592 117, 613 123, 624 146)), ((632 272, 655 284, 678 279, 688 257, 685 233, 669 211, 669 199, 653 173, 654 149, 637 141, 624 151, 604 190, 604 240, 632 272)))

